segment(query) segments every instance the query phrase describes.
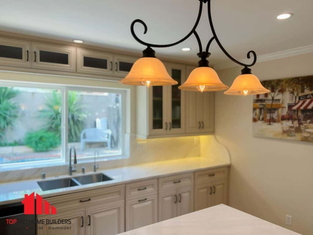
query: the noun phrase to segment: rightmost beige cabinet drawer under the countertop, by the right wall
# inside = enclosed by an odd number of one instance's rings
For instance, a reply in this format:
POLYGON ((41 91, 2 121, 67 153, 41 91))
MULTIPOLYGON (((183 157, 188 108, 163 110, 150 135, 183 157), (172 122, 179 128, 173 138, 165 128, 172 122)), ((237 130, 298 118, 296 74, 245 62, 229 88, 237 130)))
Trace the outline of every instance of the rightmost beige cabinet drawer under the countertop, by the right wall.
POLYGON ((226 178, 227 178, 226 167, 195 172, 195 184, 207 183, 214 180, 222 180, 226 178))

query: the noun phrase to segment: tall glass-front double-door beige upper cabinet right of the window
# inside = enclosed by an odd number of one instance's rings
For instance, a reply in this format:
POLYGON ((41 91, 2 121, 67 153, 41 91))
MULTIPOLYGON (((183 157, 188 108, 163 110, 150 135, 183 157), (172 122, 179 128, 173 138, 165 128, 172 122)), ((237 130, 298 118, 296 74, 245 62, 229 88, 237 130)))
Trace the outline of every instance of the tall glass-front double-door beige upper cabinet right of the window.
POLYGON ((185 81, 185 65, 165 64, 175 86, 137 87, 137 136, 154 138, 185 133, 185 97, 178 86, 185 81))

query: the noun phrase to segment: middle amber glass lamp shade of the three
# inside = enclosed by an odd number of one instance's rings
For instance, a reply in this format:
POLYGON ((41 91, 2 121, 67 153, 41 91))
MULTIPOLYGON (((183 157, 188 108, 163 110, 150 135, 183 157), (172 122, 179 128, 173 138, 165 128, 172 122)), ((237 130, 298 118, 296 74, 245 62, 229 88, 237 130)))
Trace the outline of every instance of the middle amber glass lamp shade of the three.
POLYGON ((198 67, 192 70, 190 75, 181 86, 181 90, 186 91, 222 91, 228 89, 219 79, 214 69, 210 67, 198 67))

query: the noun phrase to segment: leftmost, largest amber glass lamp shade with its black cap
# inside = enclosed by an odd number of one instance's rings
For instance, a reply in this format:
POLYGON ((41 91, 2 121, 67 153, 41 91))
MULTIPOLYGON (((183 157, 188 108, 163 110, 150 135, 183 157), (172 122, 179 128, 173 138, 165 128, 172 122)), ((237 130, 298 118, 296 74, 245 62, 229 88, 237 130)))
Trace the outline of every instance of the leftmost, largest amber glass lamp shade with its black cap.
POLYGON ((129 74, 122 79, 120 83, 147 87, 178 84, 178 82, 173 80, 167 73, 161 60, 155 57, 145 57, 147 56, 145 54, 147 50, 148 53, 150 53, 148 56, 154 56, 155 51, 151 48, 144 50, 144 57, 134 63, 129 74))

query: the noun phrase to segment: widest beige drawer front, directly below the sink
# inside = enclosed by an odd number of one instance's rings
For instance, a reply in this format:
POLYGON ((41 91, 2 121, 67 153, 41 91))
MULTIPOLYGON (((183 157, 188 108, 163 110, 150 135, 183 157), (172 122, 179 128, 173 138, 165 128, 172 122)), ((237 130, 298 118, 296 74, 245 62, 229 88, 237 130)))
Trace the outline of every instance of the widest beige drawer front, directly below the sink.
POLYGON ((112 201, 121 201, 125 198, 125 185, 118 185, 104 189, 95 189, 79 193, 73 193, 64 196, 50 197, 47 200, 58 212, 63 212, 71 208, 77 210, 84 207, 90 207, 99 203, 112 201), (66 210, 63 210, 66 209, 66 210))

